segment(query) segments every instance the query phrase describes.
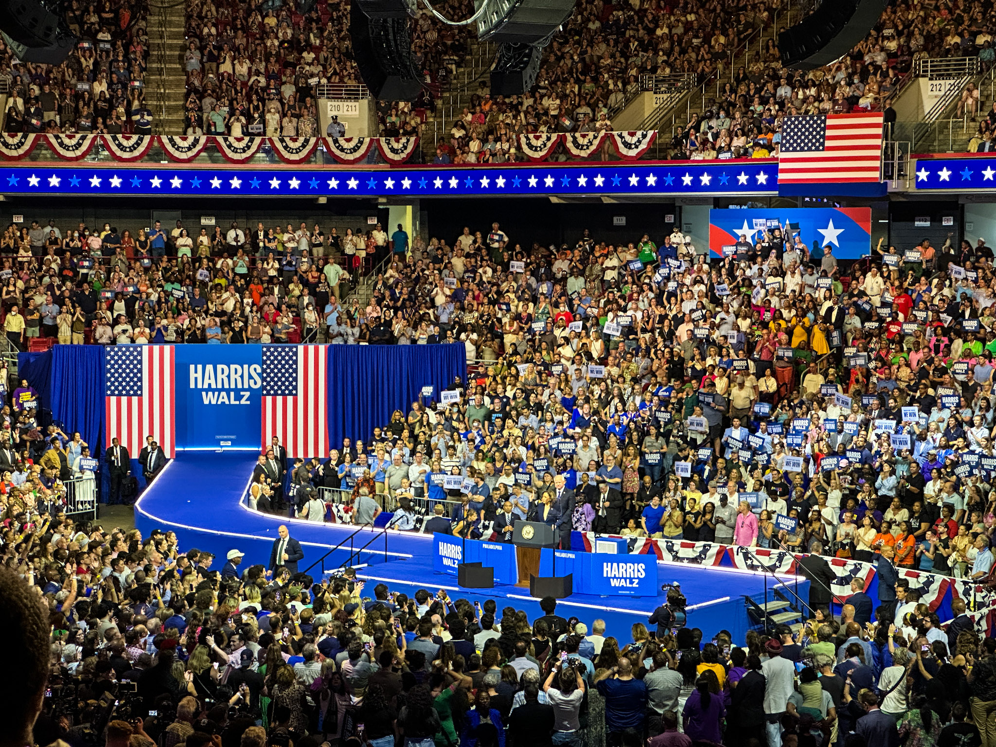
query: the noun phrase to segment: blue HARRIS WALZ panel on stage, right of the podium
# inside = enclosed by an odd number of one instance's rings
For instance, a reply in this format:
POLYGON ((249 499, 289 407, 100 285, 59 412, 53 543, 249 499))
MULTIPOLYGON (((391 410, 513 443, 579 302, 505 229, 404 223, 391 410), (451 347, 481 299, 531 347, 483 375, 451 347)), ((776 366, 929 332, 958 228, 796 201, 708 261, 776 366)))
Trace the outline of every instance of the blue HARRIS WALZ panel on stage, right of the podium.
MULTIPOLYGON (((657 556, 544 549, 540 575, 574 576, 574 591, 600 597, 656 597, 657 556), (556 566, 554 554, 556 553, 556 566)), ((497 579, 496 579, 497 581, 497 579)))

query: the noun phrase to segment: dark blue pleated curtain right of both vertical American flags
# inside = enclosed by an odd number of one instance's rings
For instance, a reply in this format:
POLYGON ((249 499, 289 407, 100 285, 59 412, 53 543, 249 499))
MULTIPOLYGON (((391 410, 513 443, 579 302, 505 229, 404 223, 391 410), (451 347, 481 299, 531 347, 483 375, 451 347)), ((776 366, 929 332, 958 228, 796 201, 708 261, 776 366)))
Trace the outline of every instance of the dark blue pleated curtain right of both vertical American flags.
MULTIPOLYGON (((439 391, 467 375, 467 349, 451 345, 330 345, 329 443, 343 438, 369 441, 376 425, 386 425, 395 409, 405 416, 422 386, 439 391)), ((425 401, 425 400, 422 400, 425 401)))

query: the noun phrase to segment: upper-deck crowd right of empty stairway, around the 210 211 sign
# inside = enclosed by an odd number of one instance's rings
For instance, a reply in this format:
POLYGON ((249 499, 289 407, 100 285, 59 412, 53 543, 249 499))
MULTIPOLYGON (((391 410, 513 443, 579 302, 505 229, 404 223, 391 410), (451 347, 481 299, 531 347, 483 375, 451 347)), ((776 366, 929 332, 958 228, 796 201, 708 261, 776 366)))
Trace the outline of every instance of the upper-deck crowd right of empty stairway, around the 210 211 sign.
MULTIPOLYGON (((440 7, 455 18, 473 13, 466 2, 440 7)), ((363 83, 351 50, 348 4, 206 2, 188 3, 186 11, 186 134, 324 135, 318 131, 317 86, 363 83)), ((413 103, 380 106, 384 135, 421 131, 434 92, 448 85, 466 55, 466 29, 417 9, 410 29, 412 65, 426 85, 413 103)))

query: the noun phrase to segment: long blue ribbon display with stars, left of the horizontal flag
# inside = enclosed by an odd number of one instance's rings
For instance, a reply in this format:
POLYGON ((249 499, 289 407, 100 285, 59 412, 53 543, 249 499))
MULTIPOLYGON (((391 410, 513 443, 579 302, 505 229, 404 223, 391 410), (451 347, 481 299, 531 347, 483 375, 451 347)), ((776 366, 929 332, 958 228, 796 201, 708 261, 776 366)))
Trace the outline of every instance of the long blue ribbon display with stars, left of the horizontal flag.
POLYGON ((388 197, 528 194, 772 194, 773 161, 708 164, 624 162, 512 168, 116 167, 114 164, 32 163, 0 167, 4 194, 141 196, 388 197))

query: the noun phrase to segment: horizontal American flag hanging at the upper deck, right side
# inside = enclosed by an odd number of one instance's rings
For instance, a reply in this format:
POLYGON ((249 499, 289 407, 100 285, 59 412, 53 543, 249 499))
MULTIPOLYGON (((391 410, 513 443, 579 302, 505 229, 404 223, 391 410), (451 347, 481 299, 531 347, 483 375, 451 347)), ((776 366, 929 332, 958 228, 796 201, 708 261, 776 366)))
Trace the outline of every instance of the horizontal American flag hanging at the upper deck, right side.
POLYGON ((880 181, 881 113, 786 117, 779 184, 880 181))

